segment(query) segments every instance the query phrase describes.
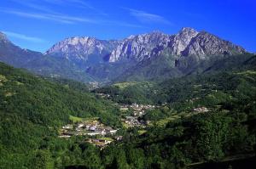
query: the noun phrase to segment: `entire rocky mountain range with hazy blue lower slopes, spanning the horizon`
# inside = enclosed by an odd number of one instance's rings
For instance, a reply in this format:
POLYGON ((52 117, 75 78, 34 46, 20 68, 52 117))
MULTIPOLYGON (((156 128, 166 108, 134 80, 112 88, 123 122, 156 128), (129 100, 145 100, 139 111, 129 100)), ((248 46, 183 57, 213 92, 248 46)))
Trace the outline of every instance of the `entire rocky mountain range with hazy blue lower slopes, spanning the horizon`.
POLYGON ((252 54, 232 42, 188 27, 174 35, 153 31, 123 40, 69 37, 44 54, 21 49, 0 34, 1 61, 39 75, 80 82, 185 76, 209 71, 230 57, 246 61, 248 56, 252 54))

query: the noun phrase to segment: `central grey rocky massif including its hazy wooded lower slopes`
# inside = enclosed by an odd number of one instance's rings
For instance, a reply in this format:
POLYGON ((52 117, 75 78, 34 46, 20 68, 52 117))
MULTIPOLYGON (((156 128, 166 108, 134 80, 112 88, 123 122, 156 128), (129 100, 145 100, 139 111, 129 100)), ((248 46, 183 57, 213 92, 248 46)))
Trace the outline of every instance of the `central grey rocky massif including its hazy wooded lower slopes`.
POLYGON ((67 59, 90 76, 104 81, 117 76, 125 76, 124 80, 132 76, 138 79, 183 76, 198 66, 201 70, 207 69, 212 60, 245 53, 245 49, 206 31, 184 27, 174 35, 154 31, 120 41, 71 37, 56 43, 45 54, 67 59))

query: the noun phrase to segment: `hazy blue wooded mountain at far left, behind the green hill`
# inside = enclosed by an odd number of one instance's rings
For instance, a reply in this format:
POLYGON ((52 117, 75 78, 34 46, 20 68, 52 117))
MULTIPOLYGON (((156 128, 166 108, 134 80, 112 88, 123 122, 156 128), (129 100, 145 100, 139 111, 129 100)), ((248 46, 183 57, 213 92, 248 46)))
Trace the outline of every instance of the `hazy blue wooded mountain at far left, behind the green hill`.
POLYGON ((10 42, 0 32, 0 61, 17 68, 25 68, 42 76, 54 76, 73 79, 80 82, 94 81, 85 70, 78 65, 73 65, 66 58, 50 57, 28 49, 22 49, 10 42))

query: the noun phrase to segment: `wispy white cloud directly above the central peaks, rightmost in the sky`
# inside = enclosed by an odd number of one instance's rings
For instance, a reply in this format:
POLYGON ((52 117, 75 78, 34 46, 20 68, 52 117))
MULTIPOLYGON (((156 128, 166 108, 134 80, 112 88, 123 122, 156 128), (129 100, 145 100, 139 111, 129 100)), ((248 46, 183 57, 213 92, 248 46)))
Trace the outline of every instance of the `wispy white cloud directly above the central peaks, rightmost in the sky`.
POLYGON ((170 22, 169 20, 166 20, 166 18, 158 14, 149 14, 143 10, 137 10, 133 8, 125 8, 125 9, 128 9, 131 16, 136 17, 137 20, 143 23, 161 23, 166 25, 173 25, 172 22, 170 22))

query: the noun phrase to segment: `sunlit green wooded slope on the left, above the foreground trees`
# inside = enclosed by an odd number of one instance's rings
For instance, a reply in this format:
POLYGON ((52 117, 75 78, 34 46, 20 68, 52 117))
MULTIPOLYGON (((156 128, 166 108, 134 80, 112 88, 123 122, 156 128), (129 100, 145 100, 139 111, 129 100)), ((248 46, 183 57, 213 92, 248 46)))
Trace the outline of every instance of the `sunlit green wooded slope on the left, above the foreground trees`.
MULTIPOLYGON (((102 115, 109 118, 112 116, 107 115, 111 111, 102 111, 104 110, 102 106, 107 106, 102 100, 96 99, 84 91, 84 88, 80 91, 82 87, 79 85, 82 84, 79 82, 76 85, 78 87, 69 87, 74 85, 73 82, 49 82, 43 77, 33 76, 3 63, 0 63, 0 68, 0 110, 6 112, 11 110, 31 118, 32 121, 62 123, 68 121, 68 115, 84 117, 102 115)), ((112 109, 111 106, 109 108, 112 109)))

